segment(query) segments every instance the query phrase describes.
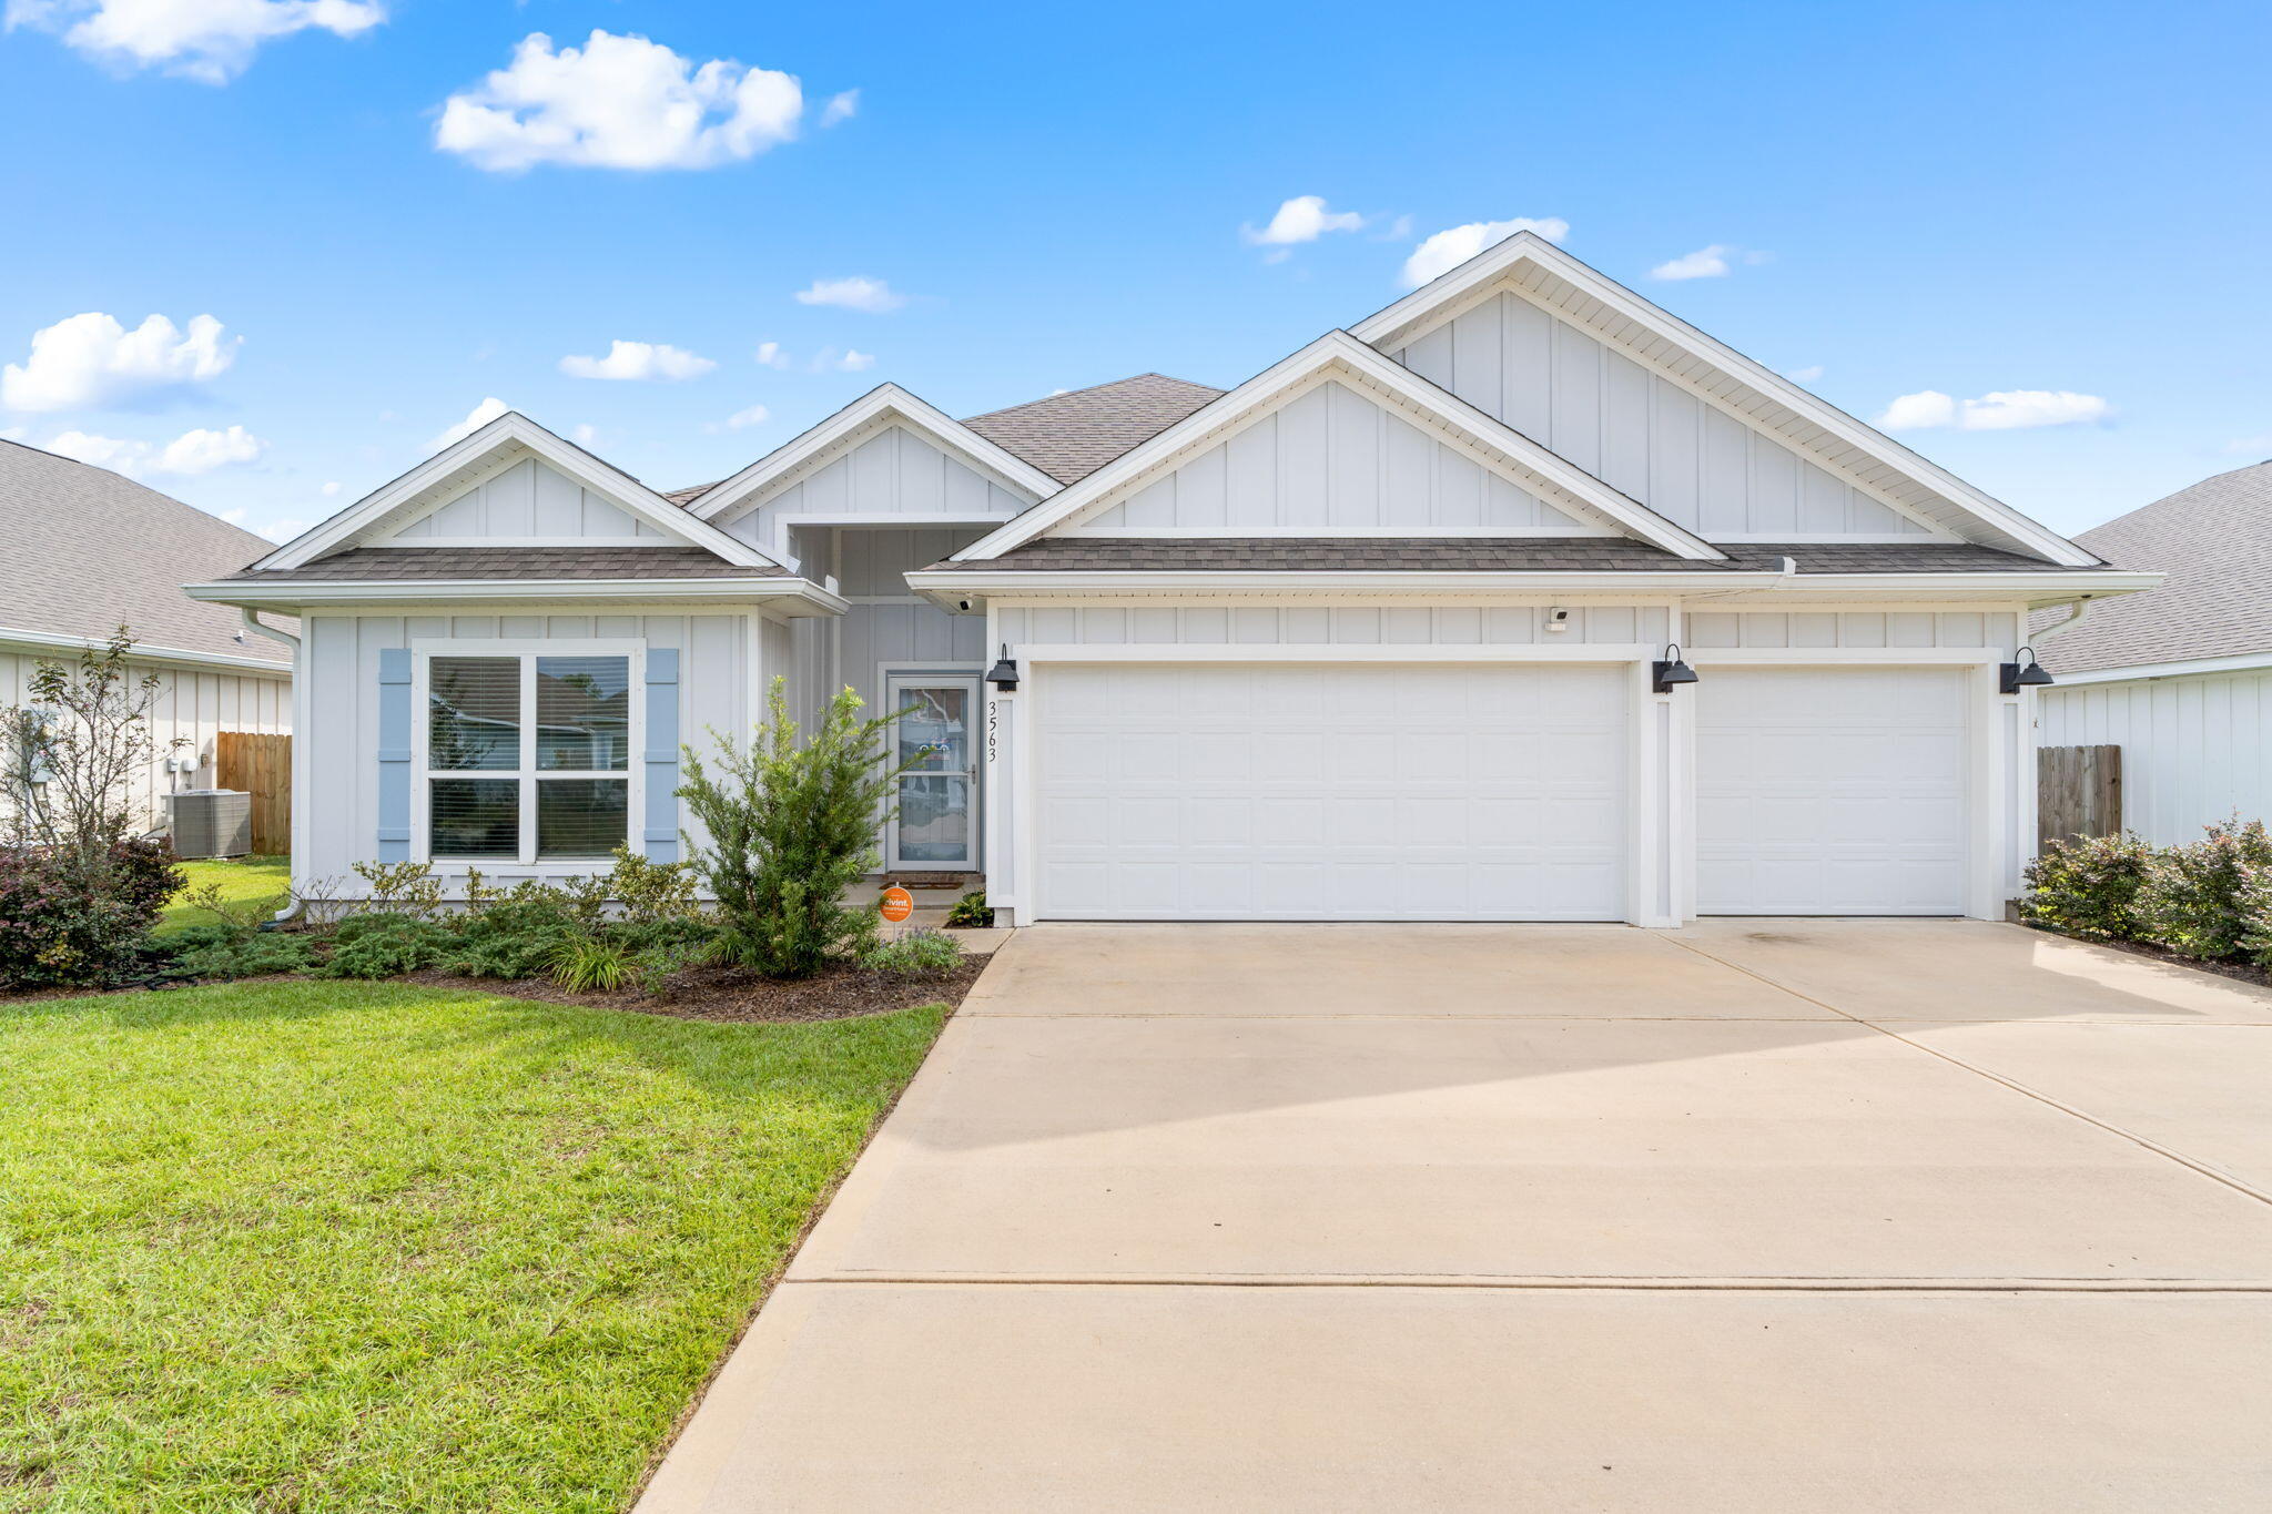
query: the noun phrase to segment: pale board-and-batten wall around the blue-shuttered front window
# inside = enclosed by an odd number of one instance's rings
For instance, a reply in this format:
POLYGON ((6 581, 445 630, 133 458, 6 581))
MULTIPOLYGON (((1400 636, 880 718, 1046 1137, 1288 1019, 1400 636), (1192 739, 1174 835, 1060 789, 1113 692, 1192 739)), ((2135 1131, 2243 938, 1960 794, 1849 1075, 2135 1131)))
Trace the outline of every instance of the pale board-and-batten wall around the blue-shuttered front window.
MULTIPOLYGON (((679 649, 679 740, 698 751, 709 731, 745 733, 752 656, 779 645, 752 638, 745 613, 720 615, 309 615, 302 622, 309 672, 307 731, 300 733, 304 797, 298 799, 300 853, 293 885, 320 888, 329 897, 361 892, 354 863, 377 853, 379 826, 379 651, 423 640, 461 642, 463 656, 482 656, 484 642, 534 640, 629 640, 679 649)), ((763 624, 763 622, 761 622, 763 624)), ((411 720, 423 720, 414 710, 411 720)), ((684 806, 679 822, 686 824, 684 806)), ((482 869, 500 883, 520 878, 563 881, 575 869, 495 865, 482 869)))

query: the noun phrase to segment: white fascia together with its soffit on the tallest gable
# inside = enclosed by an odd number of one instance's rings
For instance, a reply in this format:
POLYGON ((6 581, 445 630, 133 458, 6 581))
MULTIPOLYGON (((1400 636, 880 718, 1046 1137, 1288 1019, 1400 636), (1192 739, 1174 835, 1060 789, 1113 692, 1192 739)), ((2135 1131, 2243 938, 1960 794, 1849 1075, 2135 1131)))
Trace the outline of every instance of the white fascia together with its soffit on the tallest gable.
POLYGON ((1711 404, 1790 443, 1904 508, 1965 540, 2036 552, 2068 567, 2097 558, 1938 463, 1809 395, 1784 375, 1697 331, 1615 279, 1588 268, 1536 232, 1515 232, 1459 268, 1415 288, 1352 327, 1388 352, 1502 286, 1515 286, 1561 318, 1609 338, 1647 365, 1681 379, 1711 404))

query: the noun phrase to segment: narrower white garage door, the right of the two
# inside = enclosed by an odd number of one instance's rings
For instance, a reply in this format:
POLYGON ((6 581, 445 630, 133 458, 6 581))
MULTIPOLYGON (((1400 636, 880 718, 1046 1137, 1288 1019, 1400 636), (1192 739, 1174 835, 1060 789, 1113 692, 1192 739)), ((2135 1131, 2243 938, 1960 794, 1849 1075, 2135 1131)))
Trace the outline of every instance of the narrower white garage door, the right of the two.
POLYGON ((1963 915, 1956 667, 1702 670, 1699 915, 1963 915))

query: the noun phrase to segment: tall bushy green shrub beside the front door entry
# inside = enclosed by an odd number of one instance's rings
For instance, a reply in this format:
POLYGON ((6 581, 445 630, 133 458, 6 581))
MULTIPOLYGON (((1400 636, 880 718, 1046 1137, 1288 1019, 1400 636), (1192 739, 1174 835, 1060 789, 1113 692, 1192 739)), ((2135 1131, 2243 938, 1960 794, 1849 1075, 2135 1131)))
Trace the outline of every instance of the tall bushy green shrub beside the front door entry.
POLYGON ((895 715, 861 720, 850 688, 800 745, 784 683, 772 681, 766 724, 747 747, 718 740, 718 776, 684 749, 679 797, 709 831, 693 865, 718 897, 713 960, 809 978, 875 937, 875 912, 845 908, 843 897, 879 863, 877 822, 895 813, 888 799, 907 767, 886 767, 895 715))

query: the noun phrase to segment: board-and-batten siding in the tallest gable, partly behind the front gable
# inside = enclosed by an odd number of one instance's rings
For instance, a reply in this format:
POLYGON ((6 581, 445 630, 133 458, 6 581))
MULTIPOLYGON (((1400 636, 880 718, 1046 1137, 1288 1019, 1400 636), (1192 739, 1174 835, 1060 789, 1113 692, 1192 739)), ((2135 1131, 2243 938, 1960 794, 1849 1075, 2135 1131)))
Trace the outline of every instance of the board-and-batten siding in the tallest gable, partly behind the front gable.
POLYGON ((1931 536, 1515 293, 1502 291, 1388 356, 1709 540, 1931 536))

